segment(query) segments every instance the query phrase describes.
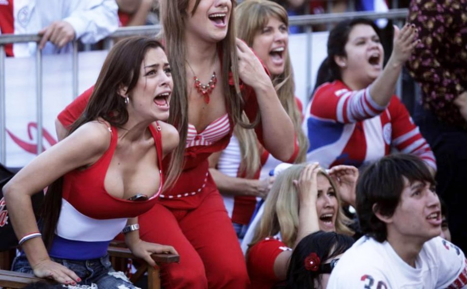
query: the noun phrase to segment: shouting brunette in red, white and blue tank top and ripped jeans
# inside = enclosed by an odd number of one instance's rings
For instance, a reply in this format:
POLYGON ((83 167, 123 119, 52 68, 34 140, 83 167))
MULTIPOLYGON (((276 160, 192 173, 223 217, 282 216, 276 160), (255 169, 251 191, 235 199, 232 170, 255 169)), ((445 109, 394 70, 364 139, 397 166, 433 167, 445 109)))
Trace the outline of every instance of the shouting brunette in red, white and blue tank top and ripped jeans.
POLYGON ((25 253, 15 269, 69 285, 135 288, 113 272, 106 255, 122 229, 130 250, 150 264, 151 253, 176 253, 171 246, 142 241, 137 226, 161 190, 161 159, 178 145, 175 128, 156 122, 169 117, 172 88, 159 42, 134 37, 112 48, 69 136, 4 187, 25 253), (46 186, 43 238, 37 238, 41 233, 29 198, 46 186))

